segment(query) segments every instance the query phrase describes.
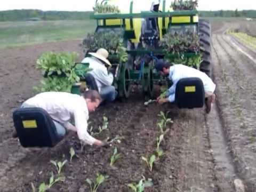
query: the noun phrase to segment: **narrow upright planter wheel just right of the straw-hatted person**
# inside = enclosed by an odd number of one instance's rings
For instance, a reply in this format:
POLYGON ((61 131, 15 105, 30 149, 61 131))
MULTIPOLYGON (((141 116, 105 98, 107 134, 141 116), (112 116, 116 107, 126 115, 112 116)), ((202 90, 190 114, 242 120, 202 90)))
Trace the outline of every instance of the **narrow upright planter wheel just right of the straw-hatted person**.
POLYGON ((130 69, 126 64, 121 64, 121 73, 119 75, 118 94, 120 98, 128 98, 130 95, 130 69))

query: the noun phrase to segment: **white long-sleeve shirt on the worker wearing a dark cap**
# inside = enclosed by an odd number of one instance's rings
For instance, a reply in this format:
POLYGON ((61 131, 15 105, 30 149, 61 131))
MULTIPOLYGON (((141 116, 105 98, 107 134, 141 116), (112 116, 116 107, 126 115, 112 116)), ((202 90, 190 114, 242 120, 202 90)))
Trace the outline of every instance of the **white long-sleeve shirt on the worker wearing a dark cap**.
POLYGON ((208 77, 202 71, 194 69, 192 67, 188 67, 182 64, 173 65, 170 67, 169 79, 173 82, 173 85, 167 91, 167 98, 169 102, 174 102, 175 100, 175 89, 178 81, 182 78, 188 77, 198 77, 202 80, 204 85, 205 92, 213 93, 215 90, 216 85, 213 83, 212 79, 208 77))

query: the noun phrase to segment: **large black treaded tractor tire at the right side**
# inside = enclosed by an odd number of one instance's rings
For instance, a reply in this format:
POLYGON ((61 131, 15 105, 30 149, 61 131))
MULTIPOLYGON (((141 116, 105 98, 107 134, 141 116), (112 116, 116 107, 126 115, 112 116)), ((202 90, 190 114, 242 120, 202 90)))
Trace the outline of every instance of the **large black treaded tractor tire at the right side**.
POLYGON ((211 25, 209 21, 204 19, 199 19, 198 22, 199 30, 199 44, 201 46, 201 52, 203 55, 203 61, 200 65, 200 70, 206 73, 211 77, 211 63, 212 63, 212 54, 211 54, 211 25))

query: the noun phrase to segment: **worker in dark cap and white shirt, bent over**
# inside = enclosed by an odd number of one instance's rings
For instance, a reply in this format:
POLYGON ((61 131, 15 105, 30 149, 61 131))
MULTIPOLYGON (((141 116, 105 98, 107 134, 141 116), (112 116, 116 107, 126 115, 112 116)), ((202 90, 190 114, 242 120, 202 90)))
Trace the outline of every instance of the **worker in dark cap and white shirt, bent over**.
POLYGON ((198 77, 202 80, 204 85, 204 92, 206 98, 206 113, 210 113, 212 103, 215 100, 215 87, 216 85, 213 83, 212 79, 208 77, 202 71, 194 69, 192 67, 188 67, 185 65, 173 65, 171 66, 170 63, 165 62, 162 59, 159 59, 156 62, 155 68, 161 75, 168 76, 168 78, 172 81, 173 85, 167 90, 166 98, 161 99, 160 97, 157 98, 158 103, 165 103, 165 102, 174 102, 175 100, 175 89, 178 81, 182 78, 188 77, 198 77))

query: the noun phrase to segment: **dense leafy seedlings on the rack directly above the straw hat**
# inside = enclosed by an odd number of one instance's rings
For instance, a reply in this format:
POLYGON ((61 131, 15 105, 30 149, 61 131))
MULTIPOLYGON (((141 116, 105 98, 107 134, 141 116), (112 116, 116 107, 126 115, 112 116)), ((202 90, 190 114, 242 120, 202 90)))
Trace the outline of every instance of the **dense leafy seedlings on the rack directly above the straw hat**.
POLYGON ((126 62, 128 54, 123 44, 123 31, 113 30, 89 33, 83 40, 84 52, 96 52, 104 48, 109 52, 110 62, 126 62))

